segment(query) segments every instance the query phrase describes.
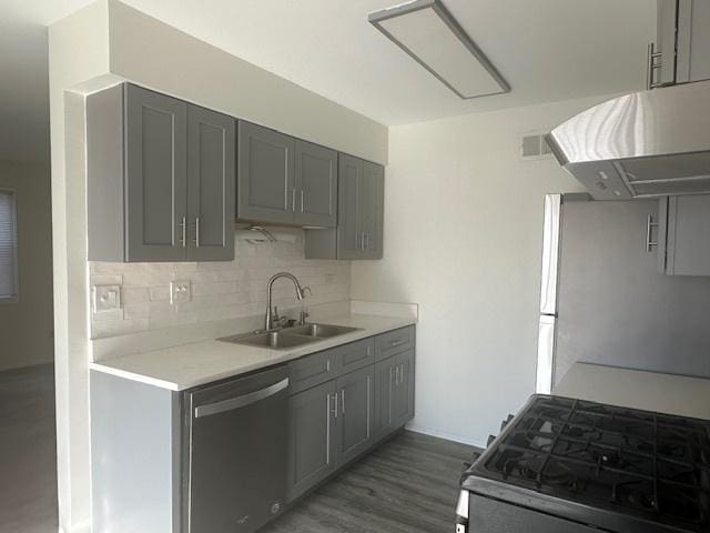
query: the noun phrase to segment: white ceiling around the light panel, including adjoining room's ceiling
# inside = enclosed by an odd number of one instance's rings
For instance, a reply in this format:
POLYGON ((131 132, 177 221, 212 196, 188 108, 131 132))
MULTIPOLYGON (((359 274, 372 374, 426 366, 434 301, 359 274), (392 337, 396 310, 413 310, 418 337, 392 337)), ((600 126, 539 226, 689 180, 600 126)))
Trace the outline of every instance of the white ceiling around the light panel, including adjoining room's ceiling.
MULTIPOLYGON (((0 159, 45 160, 44 27, 87 0, 2 0, 0 159)), ((656 0, 444 0, 510 83, 460 100, 367 22, 400 0, 125 0, 164 22, 393 125, 641 89, 656 0)))

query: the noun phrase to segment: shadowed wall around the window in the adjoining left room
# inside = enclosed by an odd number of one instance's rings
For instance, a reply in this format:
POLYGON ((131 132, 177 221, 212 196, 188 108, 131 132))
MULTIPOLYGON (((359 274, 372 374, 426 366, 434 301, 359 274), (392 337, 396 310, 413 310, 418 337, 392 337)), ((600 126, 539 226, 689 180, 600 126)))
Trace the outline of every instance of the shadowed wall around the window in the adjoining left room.
POLYGON ((20 298, 0 303, 0 370, 51 363, 52 220, 49 168, 0 161, 0 188, 17 193, 20 298))

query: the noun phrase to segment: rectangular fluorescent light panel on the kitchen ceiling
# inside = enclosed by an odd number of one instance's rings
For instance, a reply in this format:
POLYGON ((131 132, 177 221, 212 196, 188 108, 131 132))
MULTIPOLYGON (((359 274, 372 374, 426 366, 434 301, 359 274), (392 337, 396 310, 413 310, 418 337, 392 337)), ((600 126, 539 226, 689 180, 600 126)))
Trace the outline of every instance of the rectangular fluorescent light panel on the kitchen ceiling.
POLYGON ((415 0, 371 13, 369 22, 463 99, 510 86, 439 0, 415 0))

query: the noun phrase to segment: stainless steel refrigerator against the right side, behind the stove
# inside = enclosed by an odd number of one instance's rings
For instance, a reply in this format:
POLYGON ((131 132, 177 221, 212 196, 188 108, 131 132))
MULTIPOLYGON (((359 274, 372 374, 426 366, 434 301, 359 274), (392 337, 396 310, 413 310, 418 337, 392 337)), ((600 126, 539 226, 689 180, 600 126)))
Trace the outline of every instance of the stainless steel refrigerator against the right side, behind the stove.
POLYGON ((710 378, 710 278, 659 272, 656 200, 545 198, 537 392, 577 362, 710 378))

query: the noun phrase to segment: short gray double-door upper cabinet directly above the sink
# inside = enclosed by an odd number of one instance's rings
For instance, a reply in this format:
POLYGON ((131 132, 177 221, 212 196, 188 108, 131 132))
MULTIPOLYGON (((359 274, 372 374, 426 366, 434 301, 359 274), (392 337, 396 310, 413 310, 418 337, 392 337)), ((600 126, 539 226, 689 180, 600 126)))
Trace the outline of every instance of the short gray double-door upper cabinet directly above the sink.
POLYGON ((320 228, 337 222, 337 152, 240 121, 240 220, 320 228))

